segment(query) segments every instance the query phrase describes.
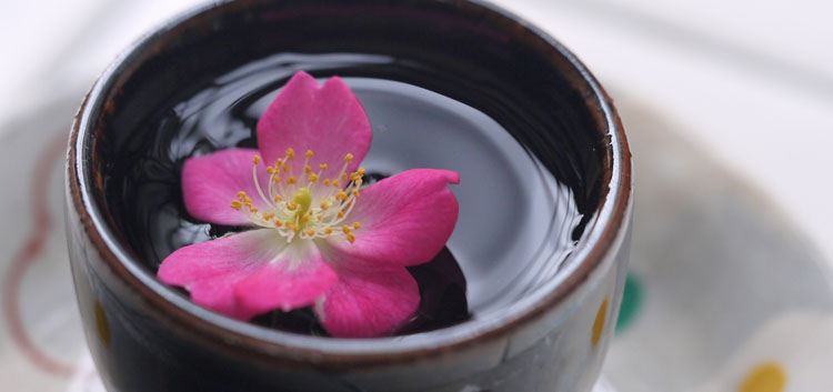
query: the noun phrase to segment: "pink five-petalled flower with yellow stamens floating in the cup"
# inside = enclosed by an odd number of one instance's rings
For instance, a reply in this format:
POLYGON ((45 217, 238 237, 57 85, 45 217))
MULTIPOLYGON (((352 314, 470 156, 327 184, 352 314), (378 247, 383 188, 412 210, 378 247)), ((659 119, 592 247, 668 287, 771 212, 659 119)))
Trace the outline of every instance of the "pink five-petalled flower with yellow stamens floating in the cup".
POLYGON ((189 159, 185 208, 253 230, 181 248, 159 279, 239 320, 312 305, 334 336, 394 332, 415 312, 405 267, 430 261, 454 229, 455 172, 416 169, 362 188, 372 131, 339 78, 298 72, 258 123, 259 150, 189 159))

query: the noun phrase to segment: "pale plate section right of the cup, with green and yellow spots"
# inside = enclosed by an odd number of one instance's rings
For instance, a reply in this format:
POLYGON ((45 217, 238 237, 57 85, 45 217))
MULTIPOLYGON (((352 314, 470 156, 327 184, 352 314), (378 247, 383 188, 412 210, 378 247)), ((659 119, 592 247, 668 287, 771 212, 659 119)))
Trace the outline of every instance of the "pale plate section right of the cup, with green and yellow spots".
POLYGON ((610 384, 833 391, 831 264, 765 198, 629 103, 618 107, 634 157, 633 242, 610 384))

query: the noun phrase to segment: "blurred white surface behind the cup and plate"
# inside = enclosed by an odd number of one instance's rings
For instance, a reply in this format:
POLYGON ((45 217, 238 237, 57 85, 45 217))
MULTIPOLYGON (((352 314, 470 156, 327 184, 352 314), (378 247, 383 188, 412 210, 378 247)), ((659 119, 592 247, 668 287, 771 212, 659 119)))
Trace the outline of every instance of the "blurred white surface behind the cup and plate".
MULTIPOLYGON (((0 123, 56 96, 80 102, 123 47, 200 2, 3 1, 0 123)), ((614 99, 678 124, 833 260, 833 2, 494 2, 571 48, 614 99)))

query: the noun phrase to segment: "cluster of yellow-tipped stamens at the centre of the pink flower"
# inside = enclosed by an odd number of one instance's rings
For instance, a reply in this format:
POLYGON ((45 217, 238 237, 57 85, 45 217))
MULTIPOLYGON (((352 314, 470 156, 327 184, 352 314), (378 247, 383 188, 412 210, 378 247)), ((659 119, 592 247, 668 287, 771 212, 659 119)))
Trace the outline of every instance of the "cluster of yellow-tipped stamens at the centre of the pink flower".
POLYGON ((300 180, 292 170, 295 152, 288 149, 285 157, 267 167, 269 183, 264 184, 258 178, 261 158, 255 155, 252 179, 258 194, 253 197, 263 201, 259 204, 265 205, 263 209, 267 211, 254 207, 252 197, 243 191, 238 192, 238 198, 231 201, 231 208, 244 213, 255 225, 275 229, 287 238, 287 242, 294 238, 309 240, 343 234, 352 243, 355 241, 353 231, 361 229, 361 223, 347 224, 345 219, 359 198, 364 169, 359 168, 348 174, 347 168, 353 160, 353 154, 349 153, 339 174, 322 180, 328 164, 322 163, 314 171, 309 164, 312 151, 308 150, 304 157, 300 180))

